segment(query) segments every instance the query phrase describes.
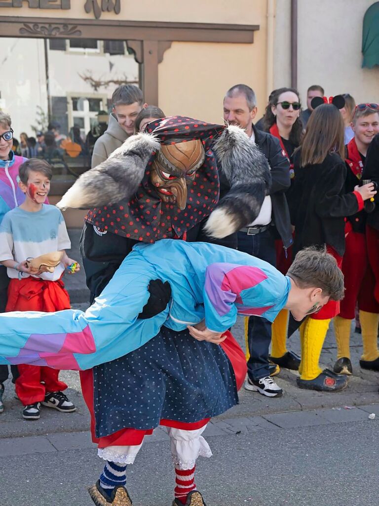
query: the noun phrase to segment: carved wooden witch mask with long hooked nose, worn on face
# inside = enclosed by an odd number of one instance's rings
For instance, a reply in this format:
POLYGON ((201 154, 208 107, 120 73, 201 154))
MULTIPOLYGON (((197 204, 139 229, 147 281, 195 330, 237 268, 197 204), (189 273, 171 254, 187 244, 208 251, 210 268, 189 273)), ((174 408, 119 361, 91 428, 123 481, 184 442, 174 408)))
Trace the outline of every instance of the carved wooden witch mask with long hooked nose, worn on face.
POLYGON ((150 181, 163 202, 176 202, 184 209, 187 201, 187 185, 205 160, 205 150, 200 140, 162 145, 150 171, 150 181))

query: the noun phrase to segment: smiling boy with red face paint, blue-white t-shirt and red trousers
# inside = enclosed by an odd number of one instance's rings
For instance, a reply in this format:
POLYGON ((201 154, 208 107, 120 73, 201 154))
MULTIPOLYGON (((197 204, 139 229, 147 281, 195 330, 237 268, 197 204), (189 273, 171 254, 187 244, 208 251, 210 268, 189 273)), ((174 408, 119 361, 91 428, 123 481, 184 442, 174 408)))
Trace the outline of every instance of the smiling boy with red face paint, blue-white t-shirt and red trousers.
MULTIPOLYGON (((65 252, 71 243, 60 210, 45 203, 52 175, 50 165, 44 160, 31 158, 20 165, 18 186, 25 200, 8 212, 0 225, 0 263, 7 268, 10 278, 6 312, 53 312, 70 308, 61 277, 65 268, 74 263, 65 252), (63 251, 63 257, 54 272, 48 272, 45 267, 35 269, 27 262, 58 250, 63 251)), ((67 385, 59 381, 59 370, 22 364, 19 373, 16 394, 24 405, 24 418, 38 419, 41 403, 59 411, 75 411, 75 406, 62 393, 67 385)))

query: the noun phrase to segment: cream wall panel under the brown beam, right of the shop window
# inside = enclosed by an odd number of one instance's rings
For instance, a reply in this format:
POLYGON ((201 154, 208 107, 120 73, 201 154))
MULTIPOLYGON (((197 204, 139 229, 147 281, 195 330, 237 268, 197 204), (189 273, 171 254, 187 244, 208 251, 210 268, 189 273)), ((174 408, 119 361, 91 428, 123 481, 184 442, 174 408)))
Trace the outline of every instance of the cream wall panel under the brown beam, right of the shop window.
POLYGON ((266 102, 266 53, 259 38, 253 45, 173 43, 159 65, 159 105, 165 114, 220 123, 225 92, 242 82, 255 90, 259 115, 266 102))

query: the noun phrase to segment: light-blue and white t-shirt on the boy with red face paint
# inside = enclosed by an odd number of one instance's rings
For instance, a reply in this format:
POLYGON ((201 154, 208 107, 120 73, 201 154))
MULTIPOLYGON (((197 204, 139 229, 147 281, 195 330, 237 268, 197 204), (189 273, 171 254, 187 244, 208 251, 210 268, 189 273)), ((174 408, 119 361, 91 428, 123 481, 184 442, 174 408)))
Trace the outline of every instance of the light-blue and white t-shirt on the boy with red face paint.
MULTIPOLYGON (((23 262, 27 258, 70 248, 65 221, 55 205, 42 204, 42 209, 36 213, 15 207, 5 215, 0 225, 0 262, 23 262)), ((56 281, 64 270, 61 263, 54 272, 43 272, 33 277, 56 281)), ((19 277, 19 271, 9 267, 7 274, 10 278, 19 277)), ((23 273, 22 277, 29 277, 29 274, 23 273)))

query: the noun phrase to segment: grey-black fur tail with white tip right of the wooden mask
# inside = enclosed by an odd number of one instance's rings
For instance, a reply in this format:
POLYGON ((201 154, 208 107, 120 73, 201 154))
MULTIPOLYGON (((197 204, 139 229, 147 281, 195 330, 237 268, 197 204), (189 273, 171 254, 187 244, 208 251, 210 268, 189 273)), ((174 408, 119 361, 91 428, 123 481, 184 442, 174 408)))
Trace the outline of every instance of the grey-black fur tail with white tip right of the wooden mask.
POLYGON ((205 231, 222 238, 257 218, 270 192, 271 174, 267 158, 239 126, 229 125, 215 141, 213 151, 230 190, 211 213, 205 231))

